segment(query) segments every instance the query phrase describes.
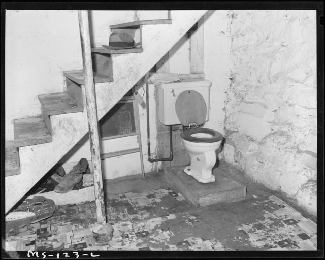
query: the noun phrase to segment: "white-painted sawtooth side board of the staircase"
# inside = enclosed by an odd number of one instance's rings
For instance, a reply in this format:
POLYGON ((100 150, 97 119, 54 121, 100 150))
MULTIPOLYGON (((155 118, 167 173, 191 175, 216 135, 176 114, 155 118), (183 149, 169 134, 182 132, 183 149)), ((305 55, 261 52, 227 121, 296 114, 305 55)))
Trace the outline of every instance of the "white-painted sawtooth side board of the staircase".
MULTIPOLYGON (((143 25, 144 52, 114 54, 114 81, 95 84, 98 118, 101 119, 206 11, 172 11, 172 24, 143 25)), ((83 88, 82 85, 84 94, 83 88)), ((88 132, 86 109, 50 118, 52 142, 20 147, 21 174, 5 178, 6 213, 88 132)))

